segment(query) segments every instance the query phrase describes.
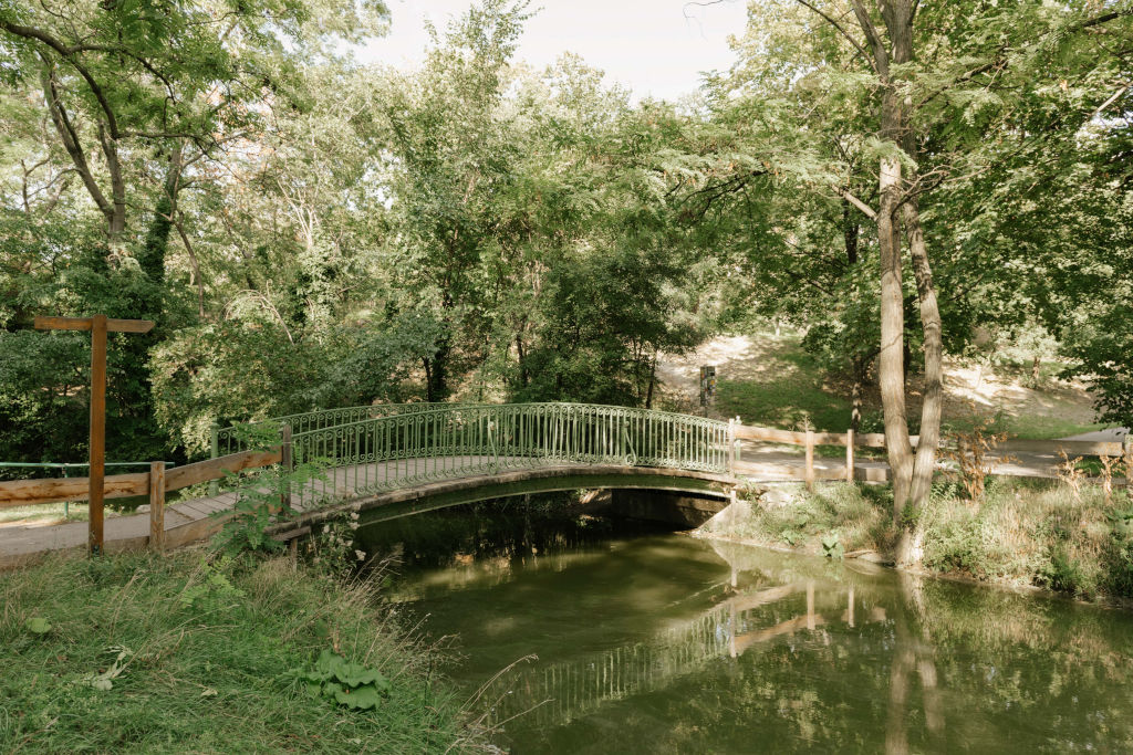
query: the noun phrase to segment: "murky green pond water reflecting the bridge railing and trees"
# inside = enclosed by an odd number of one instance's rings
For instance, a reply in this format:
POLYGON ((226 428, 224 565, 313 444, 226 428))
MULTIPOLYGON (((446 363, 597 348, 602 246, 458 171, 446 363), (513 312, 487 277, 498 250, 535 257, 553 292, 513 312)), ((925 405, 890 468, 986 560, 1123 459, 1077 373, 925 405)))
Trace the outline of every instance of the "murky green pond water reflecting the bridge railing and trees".
POLYGON ((1130 612, 493 514, 369 548, 511 752, 1133 752, 1130 612))

